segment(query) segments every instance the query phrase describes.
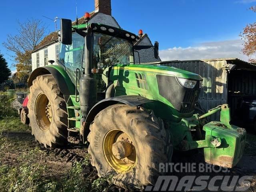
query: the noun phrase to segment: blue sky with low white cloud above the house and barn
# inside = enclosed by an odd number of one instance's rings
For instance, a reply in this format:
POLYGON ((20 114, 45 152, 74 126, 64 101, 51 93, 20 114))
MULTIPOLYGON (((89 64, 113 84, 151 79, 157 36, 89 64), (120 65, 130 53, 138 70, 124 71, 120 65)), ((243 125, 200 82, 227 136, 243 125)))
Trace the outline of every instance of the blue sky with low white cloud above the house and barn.
MULTIPOLYGON (((78 17, 94 10, 94 0, 77 0, 78 17)), ((2 42, 8 33, 17 32, 17 22, 42 19, 48 32, 54 18, 76 18, 76 0, 2 0, 0 7, 0 52, 10 60, 2 42)), ((247 23, 255 22, 256 13, 248 10, 256 0, 112 0, 112 15, 120 26, 131 32, 143 29, 152 42, 160 44, 163 60, 213 57, 246 57, 239 34, 247 23)), ((59 26, 59 23, 58 23, 59 26)), ((15 70, 15 68, 12 68, 15 70)))

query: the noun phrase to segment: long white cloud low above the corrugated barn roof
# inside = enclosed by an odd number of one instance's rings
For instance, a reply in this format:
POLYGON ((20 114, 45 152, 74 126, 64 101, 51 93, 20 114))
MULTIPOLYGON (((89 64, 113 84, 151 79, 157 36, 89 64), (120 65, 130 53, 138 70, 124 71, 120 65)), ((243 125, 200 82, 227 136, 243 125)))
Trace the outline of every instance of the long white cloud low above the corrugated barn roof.
POLYGON ((159 56, 162 61, 214 58, 239 58, 241 60, 248 61, 248 57, 241 54, 242 48, 242 41, 239 39, 204 42, 198 44, 198 46, 190 46, 186 48, 173 47, 166 50, 160 50, 159 56))

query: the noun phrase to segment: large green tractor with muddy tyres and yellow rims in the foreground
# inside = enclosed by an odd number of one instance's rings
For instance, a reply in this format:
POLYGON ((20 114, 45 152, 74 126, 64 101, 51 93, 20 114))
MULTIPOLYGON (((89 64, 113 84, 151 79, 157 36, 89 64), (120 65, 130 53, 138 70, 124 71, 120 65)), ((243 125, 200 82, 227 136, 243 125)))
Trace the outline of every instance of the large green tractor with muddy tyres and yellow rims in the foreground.
MULTIPOLYGON (((160 65, 135 64, 139 36, 104 24, 72 26, 61 20, 58 65, 40 67, 29 78, 28 117, 45 147, 65 146, 68 134, 90 143, 98 176, 122 188, 154 185, 159 164, 173 151, 204 148, 206 162, 234 167, 246 131, 230 124, 224 104, 194 114, 202 77, 160 65), (220 112, 220 121, 201 120, 220 112)), ((154 45, 158 58, 158 43, 154 45)), ((175 153, 174 153, 175 154, 175 153)))

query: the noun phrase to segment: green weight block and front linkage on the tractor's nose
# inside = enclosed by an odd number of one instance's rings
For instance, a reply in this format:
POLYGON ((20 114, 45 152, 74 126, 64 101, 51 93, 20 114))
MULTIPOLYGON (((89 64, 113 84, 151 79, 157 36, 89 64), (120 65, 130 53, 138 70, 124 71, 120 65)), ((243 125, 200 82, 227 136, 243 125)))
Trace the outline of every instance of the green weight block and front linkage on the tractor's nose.
POLYGON ((173 138, 174 149, 188 151, 204 148, 205 162, 226 168, 234 167, 242 157, 246 131, 244 128, 231 125, 230 120, 230 108, 228 104, 223 104, 202 116, 194 114, 190 118, 182 119, 179 123, 170 122, 168 126, 170 133, 175 136, 180 135, 173 138), (205 131, 204 140, 200 140, 202 119, 219 111, 220 121, 204 125, 202 128, 205 131))

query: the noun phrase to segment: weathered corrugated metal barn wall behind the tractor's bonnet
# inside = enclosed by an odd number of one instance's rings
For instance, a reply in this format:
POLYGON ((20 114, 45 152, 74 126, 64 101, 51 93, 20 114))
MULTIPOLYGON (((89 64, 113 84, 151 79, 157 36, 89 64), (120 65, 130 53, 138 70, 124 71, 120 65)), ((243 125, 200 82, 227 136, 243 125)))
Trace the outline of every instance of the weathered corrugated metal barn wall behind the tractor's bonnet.
MULTIPOLYGON (((160 64, 194 72, 204 78, 199 96, 199 103, 204 110, 208 111, 227 102, 227 71, 223 69, 227 64, 226 60, 177 61, 161 62, 160 64)), ((209 120, 212 121, 219 119, 219 113, 209 117, 209 120)))

